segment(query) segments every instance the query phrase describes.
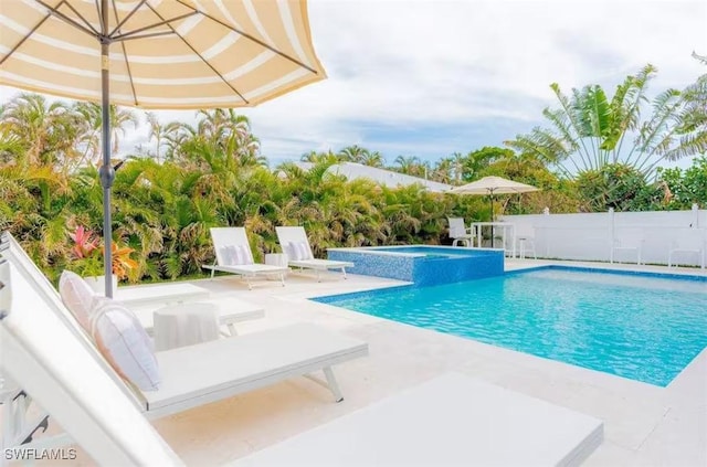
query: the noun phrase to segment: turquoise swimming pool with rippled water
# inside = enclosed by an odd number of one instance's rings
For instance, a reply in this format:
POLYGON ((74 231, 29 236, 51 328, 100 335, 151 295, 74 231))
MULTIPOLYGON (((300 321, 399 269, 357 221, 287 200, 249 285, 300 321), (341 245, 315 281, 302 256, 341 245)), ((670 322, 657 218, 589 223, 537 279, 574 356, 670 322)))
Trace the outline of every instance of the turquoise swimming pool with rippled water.
POLYGON ((707 278, 567 267, 317 301, 666 386, 707 347, 707 278))

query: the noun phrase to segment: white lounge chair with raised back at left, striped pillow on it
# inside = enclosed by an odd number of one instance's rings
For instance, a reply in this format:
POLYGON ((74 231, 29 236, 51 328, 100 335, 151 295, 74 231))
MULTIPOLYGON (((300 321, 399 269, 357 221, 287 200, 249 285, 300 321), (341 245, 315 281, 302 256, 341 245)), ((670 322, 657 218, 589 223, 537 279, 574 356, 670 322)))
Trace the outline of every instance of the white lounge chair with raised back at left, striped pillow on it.
MULTIPOLYGON (((28 397, 34 397, 45 410, 61 405, 56 414, 52 412, 60 425, 72 434, 73 427, 80 437, 95 446, 103 433, 94 436, 87 426, 99 421, 87 421, 85 413, 76 415, 77 407, 106 413, 109 405, 108 412, 123 414, 120 407, 130 402, 133 411, 137 408, 145 416, 157 418, 294 376, 307 376, 325 385, 339 402, 342 395, 331 367, 368 353, 366 342, 313 325, 296 323, 157 352, 159 390, 140 391, 126 383, 104 359, 56 290, 9 234, 3 235, 0 255, 7 259, 6 266, 10 264, 12 273, 11 287, 2 287, 0 293, 7 296, 9 288, 13 304, 10 310, 0 310, 0 373, 19 386, 15 391, 0 391, 2 426, 9 427, 3 432, 2 448, 15 447, 31 438, 36 429, 36 425, 24 420, 28 397), (319 370, 324 371, 326 382, 309 374, 319 370), (38 376, 44 373, 56 381, 49 383, 38 376), (86 384, 93 383, 98 384, 101 391, 88 390, 86 384)), ((129 423, 128 418, 133 417, 125 416, 122 423, 125 432, 147 429, 143 424, 129 423), (130 429, 125 429, 126 426, 130 429)), ((126 438, 133 437, 124 433, 106 443, 122 444, 126 438)), ((56 443, 62 441, 66 439, 60 438, 56 443)), ((91 454, 96 459, 104 458, 102 453, 91 454)), ((116 460, 120 458, 113 458, 110 464, 120 464, 116 460)), ((125 463, 138 464, 167 465, 125 463)))

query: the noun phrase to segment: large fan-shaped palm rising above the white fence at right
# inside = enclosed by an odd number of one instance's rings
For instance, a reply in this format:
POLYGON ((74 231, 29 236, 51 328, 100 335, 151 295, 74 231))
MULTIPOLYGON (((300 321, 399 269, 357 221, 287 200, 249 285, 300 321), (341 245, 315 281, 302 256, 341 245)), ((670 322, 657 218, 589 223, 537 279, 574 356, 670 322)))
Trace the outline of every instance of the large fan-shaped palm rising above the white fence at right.
POLYGON ((680 139, 688 127, 680 126, 685 102, 677 89, 658 94, 642 120, 647 84, 655 74, 656 68, 646 65, 618 85, 611 98, 599 85, 572 89, 568 97, 553 83, 550 87, 560 107, 542 113, 550 127, 534 128, 506 144, 557 164, 566 174, 625 163, 650 176, 662 160, 696 153, 700 148, 680 139))

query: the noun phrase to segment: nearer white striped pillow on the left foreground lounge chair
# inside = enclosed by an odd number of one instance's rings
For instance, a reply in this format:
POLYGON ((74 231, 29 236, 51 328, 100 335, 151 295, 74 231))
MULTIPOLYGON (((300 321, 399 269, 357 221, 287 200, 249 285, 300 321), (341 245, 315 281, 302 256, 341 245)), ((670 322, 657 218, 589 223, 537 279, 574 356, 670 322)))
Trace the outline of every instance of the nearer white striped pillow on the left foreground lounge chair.
POLYGON ((133 311, 97 297, 87 329, 115 371, 143 391, 157 391, 160 378, 149 336, 133 311))

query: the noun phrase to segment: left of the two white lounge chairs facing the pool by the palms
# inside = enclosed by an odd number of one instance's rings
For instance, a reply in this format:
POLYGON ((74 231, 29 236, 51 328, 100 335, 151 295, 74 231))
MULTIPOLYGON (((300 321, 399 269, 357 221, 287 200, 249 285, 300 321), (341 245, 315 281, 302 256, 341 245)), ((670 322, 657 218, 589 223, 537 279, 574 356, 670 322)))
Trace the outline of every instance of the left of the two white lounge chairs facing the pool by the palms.
POLYGON ((252 277, 278 275, 282 285, 285 285, 285 273, 289 268, 254 263, 244 227, 212 227, 211 240, 213 241, 217 259, 213 265, 201 266, 204 269, 211 269, 211 278, 213 278, 217 270, 238 274, 245 278, 247 288, 252 289, 252 277))

